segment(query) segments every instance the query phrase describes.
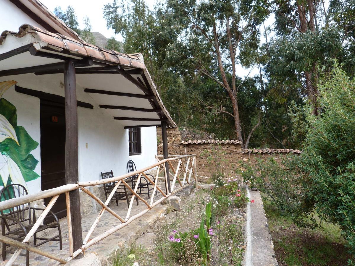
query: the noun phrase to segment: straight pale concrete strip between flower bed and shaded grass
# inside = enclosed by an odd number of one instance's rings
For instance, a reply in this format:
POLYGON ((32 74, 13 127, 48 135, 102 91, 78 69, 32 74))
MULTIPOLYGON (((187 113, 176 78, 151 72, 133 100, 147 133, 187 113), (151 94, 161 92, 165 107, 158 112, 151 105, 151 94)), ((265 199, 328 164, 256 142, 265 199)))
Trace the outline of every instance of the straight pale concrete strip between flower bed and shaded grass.
POLYGON ((248 189, 253 203, 246 207, 245 243, 243 266, 277 266, 274 244, 269 232, 263 201, 259 191, 248 189))

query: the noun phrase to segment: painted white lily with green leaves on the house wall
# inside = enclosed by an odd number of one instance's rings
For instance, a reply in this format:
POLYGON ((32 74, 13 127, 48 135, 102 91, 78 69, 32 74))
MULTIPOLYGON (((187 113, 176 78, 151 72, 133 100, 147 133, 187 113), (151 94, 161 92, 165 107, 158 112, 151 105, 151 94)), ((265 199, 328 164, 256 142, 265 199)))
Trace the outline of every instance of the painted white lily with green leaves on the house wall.
POLYGON ((16 107, 2 98, 6 90, 16 83, 0 82, 0 186, 17 183, 27 188, 26 182, 39 177, 34 172, 38 160, 31 154, 38 142, 26 129, 17 126, 16 107))

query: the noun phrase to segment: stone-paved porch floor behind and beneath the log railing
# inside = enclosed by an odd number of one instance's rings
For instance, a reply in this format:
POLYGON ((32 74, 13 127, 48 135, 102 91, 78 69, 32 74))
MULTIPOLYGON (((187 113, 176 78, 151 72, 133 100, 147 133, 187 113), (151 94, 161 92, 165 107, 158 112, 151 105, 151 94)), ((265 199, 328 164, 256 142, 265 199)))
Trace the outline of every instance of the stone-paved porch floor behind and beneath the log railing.
MULTIPOLYGON (((163 188, 162 188, 163 189, 163 188)), ((183 189, 185 190, 185 189, 183 189)), ((154 201, 159 200, 161 198, 161 194, 158 194, 154 197, 154 201)), ((147 195, 142 195, 142 198, 148 199, 147 195)), ((149 202, 149 201, 148 201, 149 202)), ((128 206, 126 201, 119 201, 119 205, 116 206, 116 202, 111 201, 109 204, 110 208, 114 210, 117 214, 119 214, 122 218, 126 217, 128 206)), ((164 217, 166 213, 168 205, 158 204, 152 210, 148 211, 145 215, 138 218, 137 220, 131 222, 124 228, 121 228, 119 231, 111 234, 107 238, 103 239, 101 242, 91 246, 86 251, 94 252, 100 257, 102 262, 109 261, 109 256, 116 250, 125 245, 131 245, 142 232, 146 231, 149 226, 153 225, 157 219, 164 217)), ((139 201, 139 206, 136 205, 136 201, 134 201, 131 216, 143 211, 147 206, 139 201)), ((83 229, 83 239, 85 238, 88 230, 92 226, 95 221, 98 212, 96 214, 89 214, 82 217, 82 229, 83 229)), ((121 222, 111 215, 109 212, 105 211, 102 216, 98 226, 94 230, 91 235, 91 238, 107 231, 108 229, 120 224, 121 222)), ((61 232, 62 232, 62 250, 59 250, 59 242, 48 242, 45 243, 38 248, 44 251, 47 251, 52 254, 59 255, 64 259, 69 256, 69 240, 68 240, 68 226, 66 218, 61 219, 60 221, 61 232)), ((55 232, 53 232, 53 235, 55 232)), ((58 231, 57 231, 58 234, 58 231)), ((51 234, 49 234, 51 235, 51 234)), ((32 242, 30 244, 33 244, 32 242)), ((7 254, 6 259, 10 259, 11 254, 7 254)), ((0 265, 4 265, 6 261, 1 261, 0 265)), ((26 257, 19 256, 14 265, 26 265, 26 257)), ((48 266, 48 265, 58 265, 58 262, 48 259, 47 257, 37 255, 35 253, 30 253, 30 265, 31 266, 48 266)))

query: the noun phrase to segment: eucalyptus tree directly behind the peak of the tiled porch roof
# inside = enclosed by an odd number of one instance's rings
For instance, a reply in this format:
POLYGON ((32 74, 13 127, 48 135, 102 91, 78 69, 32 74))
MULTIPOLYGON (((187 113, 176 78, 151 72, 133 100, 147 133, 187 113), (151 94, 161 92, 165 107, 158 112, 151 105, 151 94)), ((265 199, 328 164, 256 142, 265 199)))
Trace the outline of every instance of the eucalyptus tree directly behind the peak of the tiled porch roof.
POLYGON ((167 89, 171 73, 164 66, 166 47, 177 34, 164 9, 157 6, 151 10, 143 0, 114 0, 104 5, 103 12, 107 27, 122 35, 124 52, 141 52, 158 91, 167 89))

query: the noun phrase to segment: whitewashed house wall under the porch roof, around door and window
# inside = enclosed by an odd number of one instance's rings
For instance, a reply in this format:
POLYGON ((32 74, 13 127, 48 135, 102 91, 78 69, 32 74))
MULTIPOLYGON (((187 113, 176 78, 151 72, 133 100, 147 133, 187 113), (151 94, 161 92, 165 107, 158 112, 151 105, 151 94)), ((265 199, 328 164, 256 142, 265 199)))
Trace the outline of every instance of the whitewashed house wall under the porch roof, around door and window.
MULTIPOLYGON (((7 80, 17 81, 20 87, 64 96, 63 74, 0 77, 0 82, 7 80)), ((2 97, 15 105, 18 126, 23 126, 40 144, 39 99, 17 93, 14 87, 8 89, 2 97)), ((157 154, 155 127, 141 129, 142 154, 129 156, 128 129, 124 129, 119 121, 100 109, 80 84, 77 84, 77 99, 94 106, 94 109, 78 107, 79 181, 100 179, 100 172, 104 171, 113 170, 115 176, 127 173, 126 164, 130 159, 136 163, 138 169, 155 163, 157 154)), ((35 172, 40 175, 40 145, 31 153, 39 161, 35 172)), ((30 193, 40 191, 40 177, 27 182, 27 185, 30 193)))

